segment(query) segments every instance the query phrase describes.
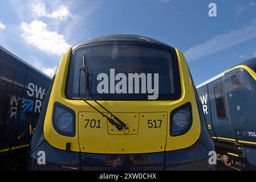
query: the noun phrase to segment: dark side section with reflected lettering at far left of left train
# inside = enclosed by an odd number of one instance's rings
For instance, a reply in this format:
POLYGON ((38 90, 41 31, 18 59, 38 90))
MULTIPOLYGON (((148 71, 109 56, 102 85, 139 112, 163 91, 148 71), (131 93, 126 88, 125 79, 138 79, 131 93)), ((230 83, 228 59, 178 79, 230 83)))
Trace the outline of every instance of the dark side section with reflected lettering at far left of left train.
POLYGON ((18 130, 27 67, 0 51, 0 151, 5 154, 13 144, 18 130))

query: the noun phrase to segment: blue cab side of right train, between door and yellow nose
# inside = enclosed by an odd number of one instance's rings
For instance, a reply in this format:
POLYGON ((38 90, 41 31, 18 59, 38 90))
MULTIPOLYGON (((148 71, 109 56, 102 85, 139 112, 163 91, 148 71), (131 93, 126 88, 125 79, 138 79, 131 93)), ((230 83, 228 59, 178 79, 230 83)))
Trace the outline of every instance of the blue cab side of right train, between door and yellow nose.
POLYGON ((243 68, 225 74, 227 99, 234 133, 239 143, 256 144, 255 80, 243 68))

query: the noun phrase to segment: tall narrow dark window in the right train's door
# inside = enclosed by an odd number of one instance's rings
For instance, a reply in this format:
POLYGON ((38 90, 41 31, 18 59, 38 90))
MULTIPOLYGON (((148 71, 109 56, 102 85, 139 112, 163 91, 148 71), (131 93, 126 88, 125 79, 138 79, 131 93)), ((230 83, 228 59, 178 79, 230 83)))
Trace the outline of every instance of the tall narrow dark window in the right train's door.
POLYGON ((216 108, 217 108, 217 117, 219 119, 224 119, 226 118, 226 112, 225 112, 221 85, 214 87, 214 96, 215 96, 215 102, 216 102, 216 108))

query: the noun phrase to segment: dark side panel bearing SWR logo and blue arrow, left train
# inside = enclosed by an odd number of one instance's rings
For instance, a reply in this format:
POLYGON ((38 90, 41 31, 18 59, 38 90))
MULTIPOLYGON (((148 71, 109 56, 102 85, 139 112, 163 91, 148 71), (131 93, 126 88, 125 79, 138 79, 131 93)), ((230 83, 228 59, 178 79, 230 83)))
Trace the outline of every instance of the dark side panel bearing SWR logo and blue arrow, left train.
POLYGON ((32 68, 27 68, 26 83, 23 93, 20 123, 15 139, 15 146, 28 146, 42 105, 50 80, 42 77, 32 68))

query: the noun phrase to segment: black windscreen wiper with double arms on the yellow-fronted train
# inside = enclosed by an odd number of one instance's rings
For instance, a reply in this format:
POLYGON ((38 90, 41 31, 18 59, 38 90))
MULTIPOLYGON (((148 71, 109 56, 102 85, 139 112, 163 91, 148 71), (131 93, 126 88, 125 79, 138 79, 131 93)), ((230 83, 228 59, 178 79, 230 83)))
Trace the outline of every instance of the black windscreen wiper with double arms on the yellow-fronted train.
POLYGON ((88 94, 88 86, 87 86, 87 79, 88 79, 88 65, 86 63, 86 56, 83 54, 83 65, 81 68, 79 68, 79 97, 86 102, 86 104, 90 105, 92 108, 94 108, 96 111, 98 111, 100 114, 102 114, 104 117, 106 117, 109 121, 109 123, 111 123, 113 126, 115 126, 119 131, 123 129, 123 127, 125 129, 129 129, 129 127, 123 122, 121 121, 121 119, 119 119, 118 117, 116 117, 116 115, 112 114, 111 111, 109 111, 107 108, 105 108, 103 105, 101 105, 99 102, 97 102, 96 100, 94 100, 90 94, 88 94), (119 125, 119 123, 116 123, 112 118, 109 118, 107 115, 105 115, 104 113, 102 113, 100 110, 98 110, 96 107, 92 106, 88 101, 84 100, 82 97, 80 97, 80 74, 81 71, 84 72, 85 74, 85 90, 86 90, 86 94, 87 97, 90 98, 90 100, 96 102, 97 105, 99 105, 100 107, 102 107, 105 111, 107 111, 109 114, 112 115, 113 118, 116 119, 117 122, 119 122, 121 125, 119 125))

